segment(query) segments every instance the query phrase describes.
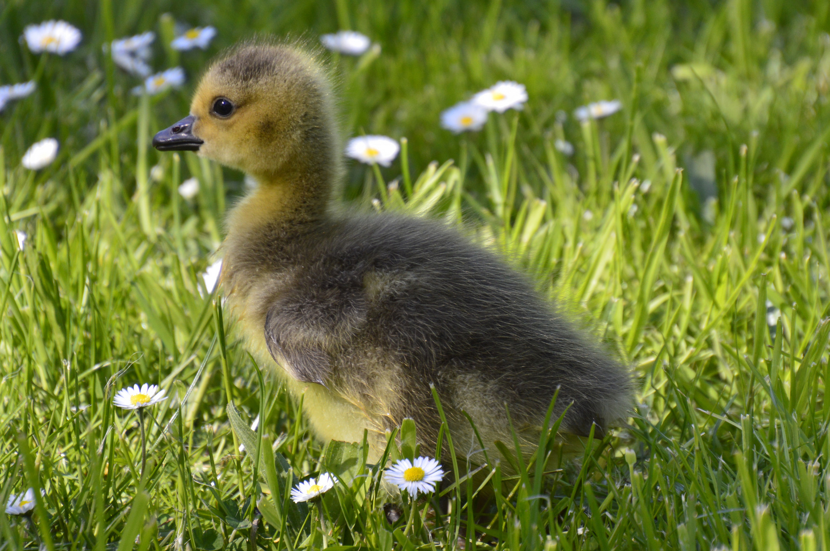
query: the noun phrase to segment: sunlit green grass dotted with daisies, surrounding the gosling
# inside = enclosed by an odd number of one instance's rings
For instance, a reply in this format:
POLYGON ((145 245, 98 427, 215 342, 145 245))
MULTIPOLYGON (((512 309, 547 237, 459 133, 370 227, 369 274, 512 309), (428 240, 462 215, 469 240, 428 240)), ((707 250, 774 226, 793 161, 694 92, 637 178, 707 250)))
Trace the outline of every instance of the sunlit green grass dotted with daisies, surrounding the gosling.
MULTIPOLYGON (((186 3, 0 2, 0 84, 38 84, 0 114, 0 498, 45 490, 31 524, 0 514, 0 549, 125 550, 136 536, 138 549, 830 549, 827 2, 186 3), (22 28, 51 17, 84 41, 33 56, 22 28), (212 24, 217 39, 170 51, 174 21, 212 24), (448 514, 420 501, 389 525, 363 448, 311 438, 300 404, 200 293, 242 175, 146 143, 187 113, 222 47, 339 27, 383 48, 331 59, 344 135, 408 139, 408 169, 383 169, 401 185, 378 208, 463 224, 637 375, 627 427, 552 474, 530 461, 511 478, 491 461, 498 497, 472 514, 453 488, 448 514), (101 44, 145 30, 165 37, 153 66, 181 63, 189 80, 142 104, 101 44), (478 134, 438 127, 501 79, 527 85, 525 110, 491 114, 478 134), (557 118, 614 98, 624 108, 607 119, 557 118), (22 168, 46 136, 58 161, 22 168), (176 188, 190 176, 201 191, 186 201, 176 188), (138 418, 111 399, 144 382, 171 397, 149 411, 141 479, 138 418), (257 432, 242 431, 257 414, 257 432), (348 484, 322 500, 325 530, 317 506, 284 499, 319 471, 348 484)), ((349 164, 355 208, 380 197, 374 178, 349 164)), ((391 456, 412 442, 404 427, 391 456)), ((464 475, 465 446, 453 461, 464 475)))

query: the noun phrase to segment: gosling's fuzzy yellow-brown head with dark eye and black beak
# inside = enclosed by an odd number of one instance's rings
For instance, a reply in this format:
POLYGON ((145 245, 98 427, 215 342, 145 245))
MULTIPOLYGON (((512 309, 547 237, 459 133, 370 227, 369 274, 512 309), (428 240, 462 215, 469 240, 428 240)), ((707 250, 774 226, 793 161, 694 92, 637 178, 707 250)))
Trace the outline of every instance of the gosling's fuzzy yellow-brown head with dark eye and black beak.
POLYGON ((159 151, 196 151, 265 182, 331 178, 339 147, 330 85, 295 46, 244 44, 215 61, 190 115, 156 134, 159 151))

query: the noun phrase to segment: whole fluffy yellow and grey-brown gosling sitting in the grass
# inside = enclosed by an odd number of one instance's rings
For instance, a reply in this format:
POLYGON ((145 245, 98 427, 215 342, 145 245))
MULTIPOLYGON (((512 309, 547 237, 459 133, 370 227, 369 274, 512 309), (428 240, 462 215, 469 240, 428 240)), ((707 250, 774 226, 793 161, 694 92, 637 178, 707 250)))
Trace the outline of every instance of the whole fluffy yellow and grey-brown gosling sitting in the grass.
MULTIPOLYGON (((261 364, 276 362, 322 440, 361 441, 370 461, 413 417, 435 451, 437 389, 466 449, 538 441, 557 388, 560 430, 602 433, 627 416, 619 363, 554 311, 525 276, 438 222, 347 215, 332 192, 341 146, 330 85, 294 46, 245 44, 215 61, 190 115, 156 134, 256 179, 227 218, 222 288, 261 364)), ((555 417, 554 417, 555 418, 555 417)))

